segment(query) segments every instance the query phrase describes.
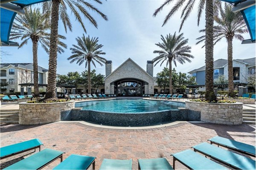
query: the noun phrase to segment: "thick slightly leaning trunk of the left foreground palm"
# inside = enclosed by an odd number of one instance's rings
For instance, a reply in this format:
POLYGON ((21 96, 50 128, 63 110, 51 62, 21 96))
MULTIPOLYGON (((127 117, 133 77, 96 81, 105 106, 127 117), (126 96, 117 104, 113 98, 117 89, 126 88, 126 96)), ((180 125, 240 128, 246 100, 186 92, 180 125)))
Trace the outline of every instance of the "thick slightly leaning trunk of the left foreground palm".
POLYGON ((58 20, 59 4, 61 0, 52 0, 51 34, 49 51, 48 85, 45 94, 46 99, 56 99, 56 70, 57 70, 57 45, 58 45, 58 20))

